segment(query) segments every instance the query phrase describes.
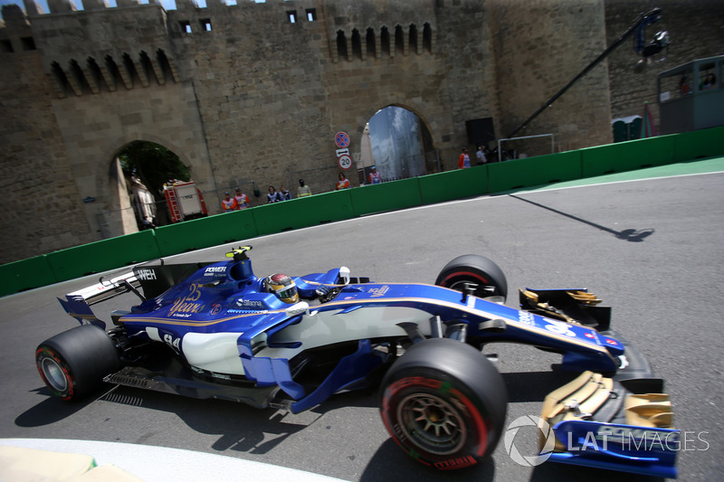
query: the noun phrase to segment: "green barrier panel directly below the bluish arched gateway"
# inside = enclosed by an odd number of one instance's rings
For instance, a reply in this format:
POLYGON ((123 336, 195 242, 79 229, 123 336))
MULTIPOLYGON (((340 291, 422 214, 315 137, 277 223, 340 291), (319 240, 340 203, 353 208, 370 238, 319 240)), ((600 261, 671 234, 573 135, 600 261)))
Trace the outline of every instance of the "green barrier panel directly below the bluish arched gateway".
POLYGON ((406 209, 422 204, 418 177, 356 187, 351 190, 350 194, 355 217, 406 209))

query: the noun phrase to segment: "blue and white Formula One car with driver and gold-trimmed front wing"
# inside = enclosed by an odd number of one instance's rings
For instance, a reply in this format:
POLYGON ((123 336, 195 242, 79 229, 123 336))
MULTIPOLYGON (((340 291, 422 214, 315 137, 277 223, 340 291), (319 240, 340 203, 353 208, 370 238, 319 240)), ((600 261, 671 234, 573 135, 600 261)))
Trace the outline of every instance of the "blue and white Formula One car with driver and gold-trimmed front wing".
POLYGON ((544 401, 539 457, 676 477, 679 430, 662 380, 586 289, 523 289, 515 309, 482 256, 452 260, 433 286, 374 283, 344 267, 257 278, 249 250, 147 263, 67 295, 81 326, 38 346, 43 381, 63 400, 107 382, 292 412, 379 383, 395 442, 428 466, 462 468, 491 454, 506 418, 505 385, 481 347, 521 343, 581 373, 544 401), (107 328, 90 305, 129 291, 140 303, 112 312, 107 328))

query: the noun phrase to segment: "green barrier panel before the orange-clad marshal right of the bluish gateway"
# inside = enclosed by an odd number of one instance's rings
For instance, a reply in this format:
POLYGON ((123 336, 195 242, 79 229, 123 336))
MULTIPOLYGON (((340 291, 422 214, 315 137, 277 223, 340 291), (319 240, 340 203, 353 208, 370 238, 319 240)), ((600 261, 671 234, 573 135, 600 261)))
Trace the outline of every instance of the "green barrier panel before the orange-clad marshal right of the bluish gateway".
POLYGON ((488 167, 476 165, 418 177, 423 204, 444 203, 463 197, 488 194, 488 167))

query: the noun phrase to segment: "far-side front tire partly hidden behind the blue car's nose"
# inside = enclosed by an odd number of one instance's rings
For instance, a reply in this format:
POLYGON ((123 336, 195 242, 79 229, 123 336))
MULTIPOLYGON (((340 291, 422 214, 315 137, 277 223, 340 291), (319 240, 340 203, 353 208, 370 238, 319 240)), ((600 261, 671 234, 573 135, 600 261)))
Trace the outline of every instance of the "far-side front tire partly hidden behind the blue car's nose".
POLYGON ((462 291, 465 284, 477 285, 472 293, 478 298, 508 296, 508 280, 500 266, 478 254, 464 254, 445 265, 435 284, 462 291), (489 289, 485 289, 489 288, 489 289))

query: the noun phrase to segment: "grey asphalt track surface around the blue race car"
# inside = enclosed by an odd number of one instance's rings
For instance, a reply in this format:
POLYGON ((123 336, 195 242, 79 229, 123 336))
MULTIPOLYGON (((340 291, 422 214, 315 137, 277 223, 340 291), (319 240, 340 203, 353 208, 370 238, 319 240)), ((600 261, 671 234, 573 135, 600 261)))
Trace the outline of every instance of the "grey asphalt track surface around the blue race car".
MULTIPOLYGON (((257 275, 299 275, 340 265, 376 281, 433 282, 452 258, 479 253, 500 264, 515 306, 517 288, 592 289, 613 307, 612 326, 666 380, 682 430, 681 480, 724 477, 724 159, 606 176, 586 184, 484 196, 241 240, 257 275), (712 172, 713 171, 713 172, 712 172), (719 172, 716 172, 719 171, 719 172), (658 176, 662 177, 658 177, 658 176), (635 177, 654 176, 635 180, 635 177), (592 183, 604 184, 592 184, 592 183)), ((234 243, 238 245, 241 242, 234 243)), ((232 245, 176 260, 220 260, 232 245)), ((118 272, 118 271, 115 271, 118 272)), ((641 480, 605 470, 514 462, 502 440, 475 468, 435 472, 387 435, 376 392, 349 392, 299 414, 255 410, 119 387, 94 399, 53 399, 33 363, 45 338, 76 326, 56 297, 94 284, 76 279, 0 298, 3 403, 0 438, 90 439, 190 449, 346 480, 641 480)), ((111 308, 135 303, 130 295, 111 308)), ((102 305, 100 305, 102 307, 102 305)), ((509 391, 506 427, 538 416, 557 387, 559 357, 489 345, 509 391)), ((533 455, 535 432, 514 438, 533 455)), ((163 463, 159 460, 158 463, 163 463)), ((230 474, 241 480, 243 474, 230 474)))

